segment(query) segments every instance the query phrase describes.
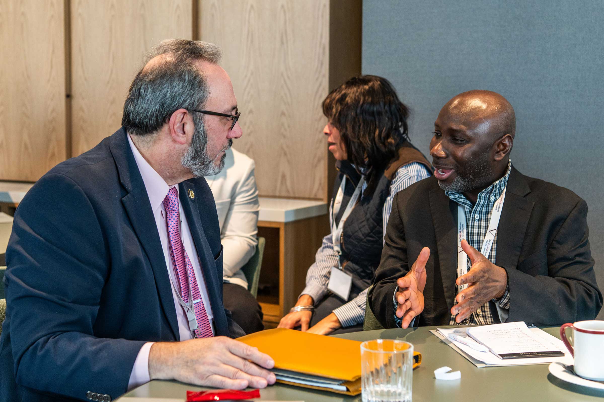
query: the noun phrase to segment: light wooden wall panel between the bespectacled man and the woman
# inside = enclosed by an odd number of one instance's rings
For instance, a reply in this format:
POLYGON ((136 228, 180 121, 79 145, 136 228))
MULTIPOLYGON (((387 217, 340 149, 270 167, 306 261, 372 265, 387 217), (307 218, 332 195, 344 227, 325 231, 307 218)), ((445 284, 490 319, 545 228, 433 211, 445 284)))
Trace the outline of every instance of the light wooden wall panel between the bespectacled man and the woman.
POLYGON ((223 49, 260 195, 327 199, 329 0, 199 0, 199 29, 223 49))

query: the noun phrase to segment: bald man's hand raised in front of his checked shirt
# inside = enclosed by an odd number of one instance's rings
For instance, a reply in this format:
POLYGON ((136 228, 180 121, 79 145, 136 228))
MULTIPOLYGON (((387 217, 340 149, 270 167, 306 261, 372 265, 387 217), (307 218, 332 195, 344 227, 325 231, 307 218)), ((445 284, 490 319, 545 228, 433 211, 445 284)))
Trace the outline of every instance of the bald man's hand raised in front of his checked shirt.
POLYGON ((457 294, 457 304, 451 308, 451 314, 457 314, 457 322, 465 320, 489 300, 502 297, 507 287, 506 270, 490 262, 465 240, 461 241, 461 248, 466 251, 472 269, 455 281, 457 285, 469 284, 457 294))

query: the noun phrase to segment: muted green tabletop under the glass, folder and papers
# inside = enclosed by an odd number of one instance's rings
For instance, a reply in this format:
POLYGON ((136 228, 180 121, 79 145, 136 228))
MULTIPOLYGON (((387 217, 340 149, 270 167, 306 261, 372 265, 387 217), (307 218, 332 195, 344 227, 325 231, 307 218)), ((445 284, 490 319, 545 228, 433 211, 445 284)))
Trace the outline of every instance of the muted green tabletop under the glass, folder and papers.
MULTIPOLYGON (((413 401, 604 401, 604 391, 566 383, 551 375, 548 365, 477 368, 429 329, 382 329, 353 332, 338 337, 353 340, 402 339, 411 342, 422 353, 422 365, 413 372, 413 401), (434 370, 449 366, 461 371, 461 380, 434 378, 434 370)), ((443 328, 443 327, 441 327, 443 328)), ((448 328, 448 327, 445 327, 448 328)), ((559 338, 559 327, 543 328, 559 338)), ((330 358, 338 358, 331 356, 330 358)), ((603 363, 604 364, 604 363, 603 363)), ((184 400, 186 391, 207 389, 176 381, 150 381, 124 397, 174 398, 184 400)), ((119 400, 119 399, 118 399, 119 400)), ((260 390, 262 400, 279 401, 361 401, 361 395, 347 397, 330 392, 312 391, 286 384, 275 384, 260 390)), ((142 400, 141 400, 142 402, 142 400)))

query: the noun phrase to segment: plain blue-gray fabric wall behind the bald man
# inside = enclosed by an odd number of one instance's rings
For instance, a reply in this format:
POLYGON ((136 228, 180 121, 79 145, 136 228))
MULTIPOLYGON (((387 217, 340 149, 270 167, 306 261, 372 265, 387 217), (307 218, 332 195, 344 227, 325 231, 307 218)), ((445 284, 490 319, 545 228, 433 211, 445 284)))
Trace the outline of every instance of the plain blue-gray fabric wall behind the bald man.
POLYGON ((362 71, 394 83, 426 155, 434 120, 455 94, 507 97, 517 118, 513 164, 587 201, 604 290, 602 21, 603 1, 365 0, 362 71))

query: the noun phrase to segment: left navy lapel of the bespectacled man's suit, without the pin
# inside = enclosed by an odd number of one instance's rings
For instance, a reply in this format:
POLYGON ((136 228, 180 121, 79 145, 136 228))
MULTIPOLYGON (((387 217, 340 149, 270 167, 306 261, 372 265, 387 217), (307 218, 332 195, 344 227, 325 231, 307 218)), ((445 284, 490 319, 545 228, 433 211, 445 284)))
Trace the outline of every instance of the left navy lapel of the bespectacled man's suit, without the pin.
POLYGON ((165 265, 164 252, 157 232, 155 217, 153 216, 143 177, 141 177, 138 170, 137 161, 134 159, 126 135, 126 129, 122 127, 109 138, 109 149, 114 157, 121 185, 127 193, 121 199, 121 202, 151 263, 159 300, 170 324, 174 339, 180 340, 174 298, 170 287, 170 276, 165 265))

